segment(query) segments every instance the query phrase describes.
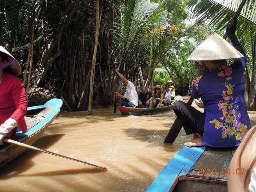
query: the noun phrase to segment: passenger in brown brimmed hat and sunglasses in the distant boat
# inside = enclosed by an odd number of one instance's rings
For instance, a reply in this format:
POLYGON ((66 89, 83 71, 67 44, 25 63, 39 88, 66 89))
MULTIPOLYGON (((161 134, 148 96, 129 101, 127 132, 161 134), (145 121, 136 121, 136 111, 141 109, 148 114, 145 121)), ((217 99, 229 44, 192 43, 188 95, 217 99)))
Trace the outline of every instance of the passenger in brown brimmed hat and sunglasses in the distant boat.
POLYGON ((160 85, 156 85, 152 87, 152 90, 154 91, 152 100, 153 107, 166 106, 166 100, 164 99, 164 94, 162 93, 164 88, 162 88, 160 85))

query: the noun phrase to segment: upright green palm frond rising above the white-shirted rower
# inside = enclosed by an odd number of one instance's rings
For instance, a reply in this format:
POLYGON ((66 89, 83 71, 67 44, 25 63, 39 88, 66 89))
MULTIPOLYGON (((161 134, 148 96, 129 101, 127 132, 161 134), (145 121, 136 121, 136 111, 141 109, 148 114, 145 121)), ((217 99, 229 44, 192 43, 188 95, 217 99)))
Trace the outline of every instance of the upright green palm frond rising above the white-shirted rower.
POLYGON ((159 3, 148 0, 130 0, 120 7, 120 24, 114 24, 114 38, 119 42, 120 62, 139 42, 140 34, 147 34, 149 28, 158 23, 164 8, 159 3))

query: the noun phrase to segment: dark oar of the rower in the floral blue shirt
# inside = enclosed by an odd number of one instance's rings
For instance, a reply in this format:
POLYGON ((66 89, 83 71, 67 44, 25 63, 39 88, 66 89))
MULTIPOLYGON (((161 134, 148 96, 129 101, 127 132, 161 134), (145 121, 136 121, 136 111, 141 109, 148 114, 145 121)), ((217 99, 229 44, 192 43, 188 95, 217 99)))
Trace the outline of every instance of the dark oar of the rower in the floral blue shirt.
MULTIPOLYGON (((238 7, 235 16, 238 17, 242 8, 244 7, 246 0, 243 0, 240 4, 240 6, 238 7)), ((232 21, 230 22, 230 24, 234 23, 234 18, 232 19, 232 21)), ((227 38, 227 33, 224 34, 223 36, 224 39, 227 38)), ((190 99, 188 100, 187 104, 192 104, 194 98, 190 97, 190 99)), ((178 136, 180 130, 182 128, 182 124, 180 122, 180 120, 178 118, 175 119, 174 123, 172 124, 172 127, 170 128, 170 131, 168 132, 166 138, 164 139, 164 143, 173 143, 176 139, 176 137, 178 136)))

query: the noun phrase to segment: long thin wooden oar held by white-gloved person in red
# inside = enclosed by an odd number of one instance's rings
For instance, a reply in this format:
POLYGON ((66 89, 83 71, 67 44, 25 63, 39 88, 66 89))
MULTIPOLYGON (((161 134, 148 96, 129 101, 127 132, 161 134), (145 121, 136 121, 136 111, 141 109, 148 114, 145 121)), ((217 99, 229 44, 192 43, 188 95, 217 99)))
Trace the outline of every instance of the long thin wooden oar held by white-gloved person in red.
POLYGON ((27 144, 24 144, 24 143, 21 143, 21 142, 18 142, 18 141, 11 140, 11 139, 4 138, 4 142, 14 144, 14 145, 18 145, 18 146, 22 146, 22 147, 26 147, 26 148, 36 150, 36 151, 39 151, 39 152, 48 153, 48 154, 55 155, 55 156, 62 157, 62 158, 66 158, 66 159, 69 159, 69 160, 77 161, 77 162, 80 162, 80 163, 88 164, 88 165, 95 166, 95 167, 98 167, 98 168, 108 169, 106 167, 94 165, 94 164, 84 162, 84 161, 81 161, 81 160, 78 160, 78 159, 74 159, 74 158, 71 158, 71 157, 60 155, 60 154, 57 154, 57 153, 54 153, 54 152, 50 152, 50 151, 47 151, 47 150, 44 150, 44 149, 40 149, 40 148, 31 146, 31 145, 27 145, 27 144))

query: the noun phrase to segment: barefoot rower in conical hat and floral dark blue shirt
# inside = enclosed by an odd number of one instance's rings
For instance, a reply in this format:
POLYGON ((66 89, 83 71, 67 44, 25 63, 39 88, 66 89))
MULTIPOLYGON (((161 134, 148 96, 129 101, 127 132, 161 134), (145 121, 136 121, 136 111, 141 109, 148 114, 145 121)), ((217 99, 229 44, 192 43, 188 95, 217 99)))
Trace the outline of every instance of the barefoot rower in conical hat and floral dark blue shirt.
POLYGON ((186 134, 193 134, 193 140, 185 146, 238 146, 250 129, 244 102, 247 56, 236 38, 234 19, 234 24, 226 28, 233 46, 213 33, 187 58, 198 61, 209 72, 194 79, 191 91, 192 98, 202 98, 204 113, 181 101, 174 104, 186 134), (227 65, 226 59, 232 58, 236 59, 227 65))

